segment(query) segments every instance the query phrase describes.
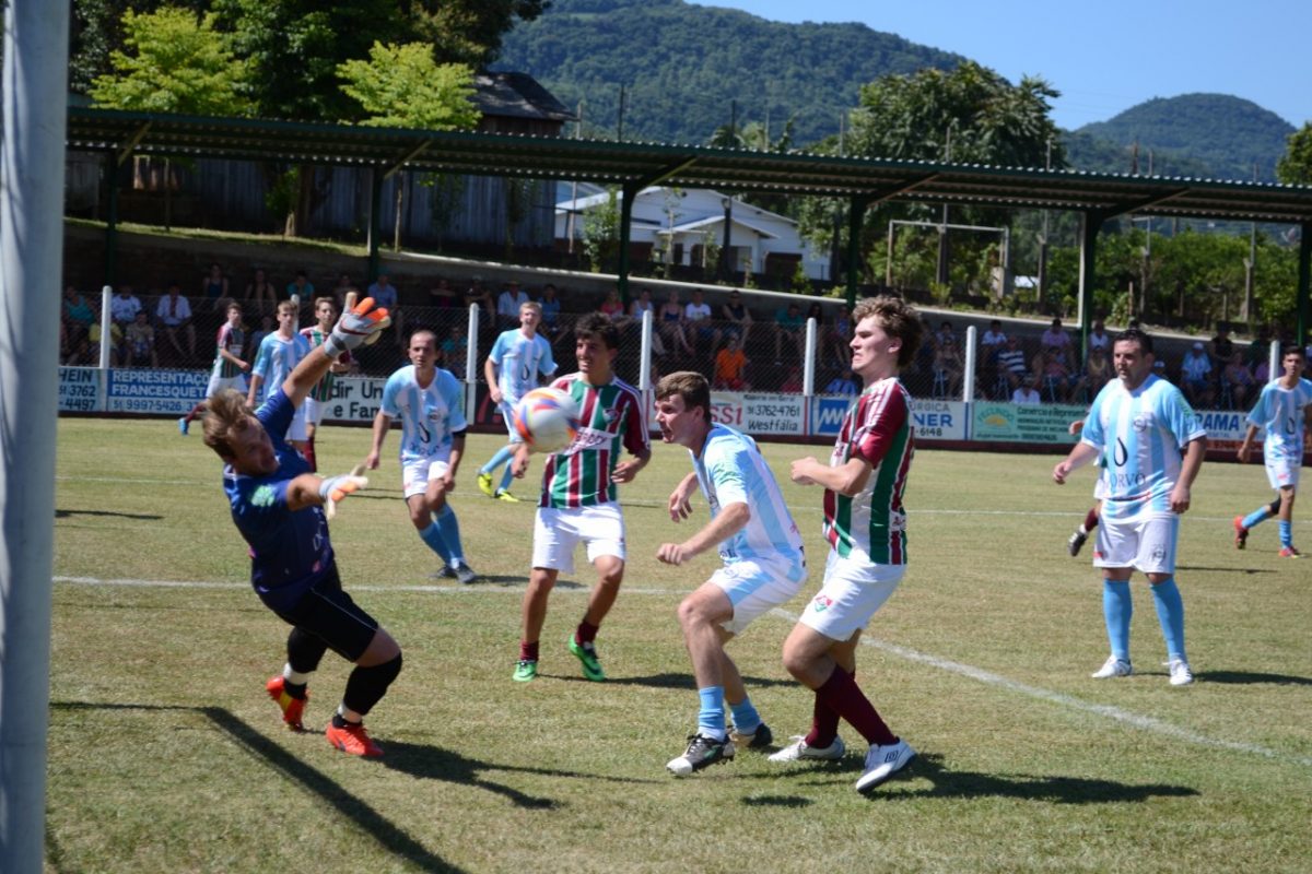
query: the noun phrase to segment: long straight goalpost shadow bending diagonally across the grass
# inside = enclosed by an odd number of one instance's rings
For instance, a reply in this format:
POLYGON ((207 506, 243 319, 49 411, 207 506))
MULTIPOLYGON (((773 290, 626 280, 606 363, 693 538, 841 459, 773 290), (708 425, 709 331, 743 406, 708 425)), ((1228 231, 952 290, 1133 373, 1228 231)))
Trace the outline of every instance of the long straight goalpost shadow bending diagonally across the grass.
MULTIPOLYGON (((51 701, 50 709, 198 713, 213 722, 214 727, 226 732, 234 740, 245 746, 251 752, 264 759, 268 765, 282 772, 283 776, 312 791, 342 816, 348 816, 354 820, 354 823, 359 826, 361 831, 370 835, 388 853, 404 858, 405 861, 419 866, 420 870, 430 871, 432 874, 461 874, 462 871, 462 869, 455 867, 440 856, 433 854, 428 848, 411 837, 404 828, 396 826, 392 820, 379 814, 366 802, 352 795, 321 770, 297 759, 290 752, 223 708, 51 701)), ((388 750, 391 750, 391 746, 388 746, 388 750)), ((377 763, 373 761, 361 761, 361 765, 365 768, 374 767, 375 764, 377 763)), ((47 843, 50 843, 49 837, 47 843)))

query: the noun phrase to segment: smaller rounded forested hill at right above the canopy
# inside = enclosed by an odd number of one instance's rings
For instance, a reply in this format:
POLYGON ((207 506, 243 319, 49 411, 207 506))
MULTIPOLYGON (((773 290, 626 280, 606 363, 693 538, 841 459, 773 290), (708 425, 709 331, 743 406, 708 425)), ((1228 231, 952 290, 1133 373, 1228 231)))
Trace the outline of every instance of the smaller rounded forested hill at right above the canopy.
MULTIPOLYGON (((1085 124, 1075 138, 1088 136, 1119 148, 1119 166, 1089 166, 1093 152, 1075 149, 1080 169, 1130 172, 1131 151, 1139 144, 1139 172, 1162 176, 1202 176, 1223 180, 1275 181, 1275 161, 1294 126, 1257 104, 1228 94, 1182 94, 1139 104, 1106 122, 1085 124)), ((1086 142, 1085 142, 1086 144, 1086 142)), ((1109 153, 1110 155, 1110 153, 1109 153)), ((1109 155, 1103 155, 1107 159, 1109 155)))

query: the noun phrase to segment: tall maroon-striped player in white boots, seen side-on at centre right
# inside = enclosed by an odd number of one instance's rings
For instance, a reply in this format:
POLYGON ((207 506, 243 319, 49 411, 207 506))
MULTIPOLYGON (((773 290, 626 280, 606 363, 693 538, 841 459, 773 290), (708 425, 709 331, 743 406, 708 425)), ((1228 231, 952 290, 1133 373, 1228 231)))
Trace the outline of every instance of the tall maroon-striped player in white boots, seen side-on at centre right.
POLYGON ((857 642, 907 570, 903 491, 914 455, 911 396, 897 381, 914 360, 921 322, 905 301, 867 297, 857 304, 851 370, 863 390, 848 410, 829 464, 792 463, 792 481, 824 487, 829 560, 824 584, 783 643, 783 666, 816 693, 811 731, 771 761, 840 759, 838 719, 870 744, 857 791, 870 791, 916 751, 890 731, 855 681, 857 642))

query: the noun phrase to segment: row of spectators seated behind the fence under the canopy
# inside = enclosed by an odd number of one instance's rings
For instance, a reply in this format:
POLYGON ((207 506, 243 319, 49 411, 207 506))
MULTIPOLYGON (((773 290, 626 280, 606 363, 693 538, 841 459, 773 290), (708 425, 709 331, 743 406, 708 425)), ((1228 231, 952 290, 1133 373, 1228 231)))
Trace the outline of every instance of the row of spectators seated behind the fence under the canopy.
MULTIPOLYGON (((328 287, 321 294, 307 271, 297 271, 286 284, 273 282, 264 269, 255 267, 249 275, 243 284, 227 276, 220 265, 211 265, 201 278, 195 303, 182 294, 178 282, 140 296, 131 284, 119 286, 110 299, 110 366, 206 367, 214 360, 215 338, 232 301, 241 308, 245 354, 253 356, 260 341, 274 330, 279 301, 297 296, 299 321, 311 325, 316 299, 332 297, 340 312, 346 292, 357 288, 346 274, 336 276, 331 286, 325 282, 328 287)), ((727 290, 720 303, 712 305, 699 288, 686 301, 677 290, 670 290, 657 303, 649 288, 638 287, 627 305, 617 291, 610 291, 593 307, 590 295, 585 303, 581 295, 562 292, 550 282, 526 290, 508 279, 500 283, 497 294, 479 278, 459 283, 437 278, 424 284, 426 290, 409 288, 404 295, 387 274, 365 284, 362 295, 392 311, 394 329, 391 342, 378 343, 361 356, 357 372, 380 375, 404 363, 405 333, 422 325, 441 338, 440 366, 463 375, 470 342, 468 308, 479 307, 478 349, 489 350, 500 332, 518 325, 520 305, 533 300, 542 307, 538 333, 555 347, 562 373, 573 367, 572 322, 596 309, 621 329, 626 342, 617 372, 636 383, 642 320, 649 312, 653 381, 676 370, 698 370, 720 390, 800 392, 807 322, 815 318, 817 393, 855 392, 849 347, 851 311, 846 305, 827 312, 819 301, 807 304, 799 299, 765 314, 753 313, 739 290, 727 290), (568 307, 563 299, 569 301, 568 307)), ((943 320, 935 329, 926 318, 924 337, 903 380, 914 396, 959 400, 966 368, 964 335, 951 321, 943 320)), ((1241 350, 1221 326, 1210 342, 1193 342, 1178 360, 1162 355, 1158 372, 1176 381, 1195 409, 1246 409, 1267 379, 1269 338, 1270 332, 1263 330, 1248 350, 1241 350)), ((101 339, 98 300, 68 286, 62 300, 60 362, 96 366, 101 339)), ((1015 404, 1088 404, 1115 376, 1111 341, 1103 322, 1096 321, 1088 355, 1081 359, 1078 343, 1060 318, 1036 335, 1005 332, 993 320, 979 338, 974 394, 1015 404)))

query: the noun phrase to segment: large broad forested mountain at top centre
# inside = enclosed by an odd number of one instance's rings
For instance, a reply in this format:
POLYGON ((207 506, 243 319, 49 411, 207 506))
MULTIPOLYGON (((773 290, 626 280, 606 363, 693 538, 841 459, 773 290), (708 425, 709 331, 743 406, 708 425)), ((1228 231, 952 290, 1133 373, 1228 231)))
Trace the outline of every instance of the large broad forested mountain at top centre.
POLYGON ((502 45, 500 69, 518 69, 571 109, 584 130, 614 136, 625 86, 625 139, 706 143, 733 115, 789 118, 794 144, 838 132, 859 86, 886 73, 953 68, 964 60, 861 24, 779 24, 684 0, 554 0, 502 45))

